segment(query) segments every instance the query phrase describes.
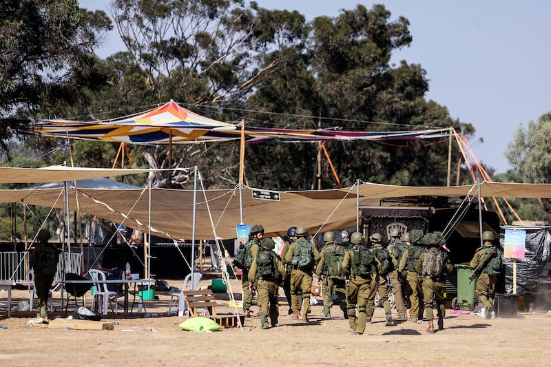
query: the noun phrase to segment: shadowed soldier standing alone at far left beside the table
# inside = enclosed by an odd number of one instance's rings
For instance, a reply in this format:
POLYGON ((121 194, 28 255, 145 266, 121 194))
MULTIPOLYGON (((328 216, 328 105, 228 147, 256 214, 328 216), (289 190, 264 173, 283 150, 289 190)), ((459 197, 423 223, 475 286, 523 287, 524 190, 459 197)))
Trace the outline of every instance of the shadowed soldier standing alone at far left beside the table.
POLYGON ((37 234, 37 247, 30 253, 30 267, 34 269, 34 288, 37 290, 39 304, 37 317, 48 319, 46 305, 50 287, 54 282, 54 275, 59 261, 59 250, 55 244, 48 242, 52 238, 48 229, 41 229, 37 234))

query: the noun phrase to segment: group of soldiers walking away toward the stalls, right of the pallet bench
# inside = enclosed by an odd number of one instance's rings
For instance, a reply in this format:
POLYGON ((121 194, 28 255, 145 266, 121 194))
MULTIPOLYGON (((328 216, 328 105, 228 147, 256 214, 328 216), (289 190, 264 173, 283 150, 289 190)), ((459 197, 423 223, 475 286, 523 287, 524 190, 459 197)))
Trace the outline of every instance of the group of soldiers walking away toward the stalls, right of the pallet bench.
MULTIPOLYGON (((384 308, 386 326, 407 321, 404 289, 408 290, 411 321, 420 324, 426 319, 428 333, 444 328, 446 275, 453 271, 453 265, 444 250, 446 240, 443 235, 424 234, 419 229, 402 234, 395 229, 387 246, 382 243, 380 233, 373 233, 364 240, 362 233, 353 232, 349 246, 344 235, 343 231, 343 241, 337 243, 335 233, 324 233, 324 246, 318 252, 305 227, 291 227, 279 257, 273 251, 275 242, 272 238, 264 238, 262 225, 254 225, 249 242, 242 245, 233 262, 243 271, 245 315, 251 316, 253 291, 256 290, 261 327, 276 326, 281 285, 289 302, 291 319, 308 323, 315 274, 318 284, 322 284, 323 317, 331 319, 331 308, 336 303, 344 318, 349 320, 352 334, 362 335, 366 324, 372 323, 375 294, 384 308), (396 319, 393 319, 388 300, 389 289, 394 296, 396 319), (433 324, 434 311, 437 329, 433 324)), ((486 308, 486 317, 490 317, 496 276, 502 266, 501 251, 492 244, 494 236, 491 231, 484 232, 482 238, 486 241, 484 247, 475 253, 470 266, 479 273, 476 292, 486 308)))

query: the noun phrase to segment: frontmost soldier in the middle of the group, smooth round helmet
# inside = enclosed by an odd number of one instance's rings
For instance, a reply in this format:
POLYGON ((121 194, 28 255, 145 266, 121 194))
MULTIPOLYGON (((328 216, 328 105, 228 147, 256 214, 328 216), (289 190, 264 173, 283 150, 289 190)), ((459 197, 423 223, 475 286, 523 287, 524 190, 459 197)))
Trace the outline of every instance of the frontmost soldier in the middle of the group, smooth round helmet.
POLYGON ((346 251, 342 260, 344 278, 349 280, 346 283, 349 332, 355 335, 362 335, 366 329, 366 310, 373 307, 377 276, 381 271, 381 263, 362 243, 362 238, 362 233, 352 233, 350 242, 353 247, 346 251))

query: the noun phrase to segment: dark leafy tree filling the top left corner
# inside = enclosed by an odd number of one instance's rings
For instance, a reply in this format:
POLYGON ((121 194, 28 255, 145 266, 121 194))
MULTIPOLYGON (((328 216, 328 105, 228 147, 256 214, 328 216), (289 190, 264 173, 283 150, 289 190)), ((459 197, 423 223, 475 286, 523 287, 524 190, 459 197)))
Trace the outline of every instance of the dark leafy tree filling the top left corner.
POLYGON ((0 148, 26 132, 46 105, 72 104, 94 70, 96 32, 110 28, 105 12, 76 0, 10 0, 0 6, 0 148))

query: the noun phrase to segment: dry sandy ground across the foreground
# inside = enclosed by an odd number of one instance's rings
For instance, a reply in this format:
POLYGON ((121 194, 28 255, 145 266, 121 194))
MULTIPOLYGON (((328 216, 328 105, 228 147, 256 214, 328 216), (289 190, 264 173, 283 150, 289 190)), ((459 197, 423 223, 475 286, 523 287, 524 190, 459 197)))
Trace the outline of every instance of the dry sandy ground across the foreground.
MULTIPOLYGON (((205 277, 208 277, 205 275, 205 277)), ((181 281, 169 281, 181 287, 181 281)), ((206 288, 211 280, 201 280, 206 288)), ((231 281, 240 299, 240 282, 231 281)), ((282 295, 282 291, 280 291, 282 295)), ((244 328, 214 333, 183 331, 186 317, 166 317, 169 295, 145 301, 143 314, 110 313, 114 331, 55 330, 29 327, 34 312, 0 312, 0 366, 549 366, 551 317, 519 313, 517 318, 483 319, 448 310, 444 331, 426 333, 426 322, 384 326, 384 311, 376 308, 373 324, 361 336, 350 335, 348 320, 333 306, 333 319, 322 319, 321 297, 312 307, 311 322, 292 321, 287 305, 280 307, 280 324, 260 328, 260 317, 246 319, 244 328), (165 315, 163 315, 163 313, 165 315), (152 331, 154 329, 157 332, 152 331), (132 331, 123 331, 132 330, 132 331)), ((0 294, 5 302, 6 293, 0 294)), ((16 302, 27 291, 14 291, 16 302)), ((227 295, 218 312, 229 312, 227 295)), ((284 298, 281 298, 284 300, 284 298)), ((282 302, 283 303, 283 302, 282 302)), ((90 297, 88 297, 90 306, 90 297)), ((253 307, 254 310, 257 307, 253 307)), ((457 312, 457 311, 456 311, 457 312)), ((59 312, 50 317, 60 315, 59 312)))

